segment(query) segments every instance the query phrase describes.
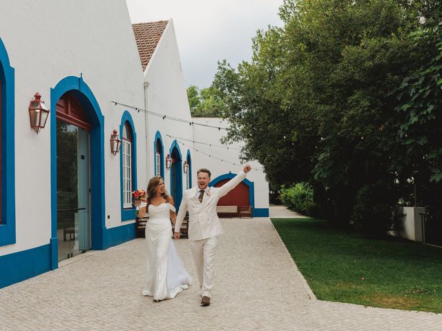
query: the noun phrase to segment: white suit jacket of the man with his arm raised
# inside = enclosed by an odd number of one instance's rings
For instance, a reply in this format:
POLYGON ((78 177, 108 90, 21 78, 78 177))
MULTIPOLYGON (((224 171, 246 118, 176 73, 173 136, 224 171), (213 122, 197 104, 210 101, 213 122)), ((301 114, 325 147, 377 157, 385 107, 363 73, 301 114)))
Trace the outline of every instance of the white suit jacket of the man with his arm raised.
POLYGON ((210 188, 209 193, 207 191, 204 193, 202 203, 197 198, 197 192, 200 190, 198 185, 186 190, 182 197, 180 210, 178 210, 175 232, 180 232, 186 211, 189 210, 188 237, 190 241, 207 239, 222 234, 220 219, 218 219, 216 213, 216 205, 218 200, 235 188, 244 178, 246 178, 246 174, 241 171, 220 188, 210 188))

